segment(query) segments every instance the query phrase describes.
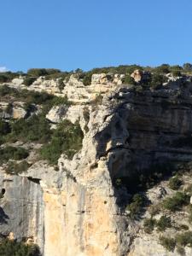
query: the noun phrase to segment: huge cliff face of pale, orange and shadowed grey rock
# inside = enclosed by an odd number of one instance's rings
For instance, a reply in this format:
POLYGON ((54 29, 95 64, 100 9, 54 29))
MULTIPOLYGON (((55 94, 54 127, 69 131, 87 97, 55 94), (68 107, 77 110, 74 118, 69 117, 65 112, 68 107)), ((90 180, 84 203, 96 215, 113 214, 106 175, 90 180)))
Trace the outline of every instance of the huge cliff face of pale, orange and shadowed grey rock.
POLYGON ((153 236, 138 236, 125 212, 129 189, 114 181, 167 160, 192 160, 192 149, 178 145, 192 132, 191 84, 137 93, 120 83, 112 87, 103 76, 92 81, 86 87, 72 77, 64 90, 75 104, 47 115, 55 124, 79 119, 83 147, 73 160, 62 154, 58 172, 40 161, 19 177, 2 170, 1 233, 32 237, 44 256, 179 255, 166 253, 153 236), (93 100, 98 91, 102 103, 93 100))

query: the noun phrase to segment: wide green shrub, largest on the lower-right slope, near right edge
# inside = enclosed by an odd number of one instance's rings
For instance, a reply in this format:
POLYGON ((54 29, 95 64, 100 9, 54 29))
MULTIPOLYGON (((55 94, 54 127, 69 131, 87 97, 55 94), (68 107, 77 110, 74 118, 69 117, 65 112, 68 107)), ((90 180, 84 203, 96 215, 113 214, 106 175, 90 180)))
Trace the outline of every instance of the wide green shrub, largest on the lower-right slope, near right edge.
POLYGON ((163 207, 172 212, 178 211, 184 205, 189 204, 189 195, 182 192, 177 192, 172 197, 168 197, 163 201, 163 207))

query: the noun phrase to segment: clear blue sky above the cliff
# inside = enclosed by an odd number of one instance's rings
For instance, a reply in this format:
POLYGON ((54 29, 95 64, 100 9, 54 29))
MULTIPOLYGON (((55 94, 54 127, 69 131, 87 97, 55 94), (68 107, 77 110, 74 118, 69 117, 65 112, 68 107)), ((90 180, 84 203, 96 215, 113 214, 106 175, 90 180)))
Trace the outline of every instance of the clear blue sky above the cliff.
POLYGON ((5 0, 0 67, 192 62, 191 0, 5 0))

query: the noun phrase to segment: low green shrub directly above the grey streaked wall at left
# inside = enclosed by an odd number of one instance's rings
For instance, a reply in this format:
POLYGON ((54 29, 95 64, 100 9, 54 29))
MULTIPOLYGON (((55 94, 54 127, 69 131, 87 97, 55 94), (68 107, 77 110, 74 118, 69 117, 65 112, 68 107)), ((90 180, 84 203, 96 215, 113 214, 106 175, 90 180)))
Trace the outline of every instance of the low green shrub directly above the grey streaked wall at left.
POLYGON ((27 163, 26 160, 21 161, 20 163, 15 163, 14 161, 9 161, 8 166, 5 169, 5 172, 8 174, 18 174, 20 172, 26 172, 26 170, 31 165, 27 163))

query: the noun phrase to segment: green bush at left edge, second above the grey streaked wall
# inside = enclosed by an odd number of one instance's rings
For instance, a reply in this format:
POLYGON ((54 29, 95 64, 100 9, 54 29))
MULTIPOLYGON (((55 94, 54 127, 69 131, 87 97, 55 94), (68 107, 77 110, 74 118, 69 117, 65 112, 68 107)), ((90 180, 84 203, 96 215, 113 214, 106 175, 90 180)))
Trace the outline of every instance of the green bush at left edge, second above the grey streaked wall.
POLYGON ((15 148, 8 146, 0 149, 0 163, 6 163, 8 160, 21 160, 28 156, 25 148, 15 148))

